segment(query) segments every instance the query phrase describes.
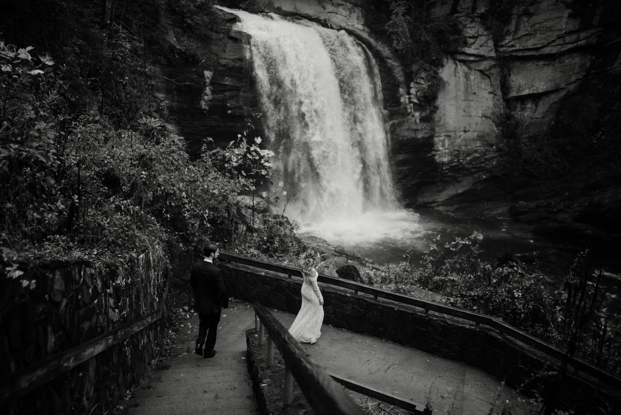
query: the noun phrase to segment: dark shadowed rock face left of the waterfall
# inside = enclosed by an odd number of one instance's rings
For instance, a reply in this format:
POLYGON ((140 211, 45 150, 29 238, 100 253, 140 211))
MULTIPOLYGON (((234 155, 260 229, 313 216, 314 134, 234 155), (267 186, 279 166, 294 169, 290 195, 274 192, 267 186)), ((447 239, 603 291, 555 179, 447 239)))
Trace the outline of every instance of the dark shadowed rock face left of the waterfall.
POLYGON ((206 137, 228 143, 242 130, 244 119, 258 111, 247 56, 249 37, 231 29, 236 16, 219 15, 223 28, 209 40, 188 37, 165 20, 168 52, 154 65, 159 79, 155 96, 193 154, 206 137))

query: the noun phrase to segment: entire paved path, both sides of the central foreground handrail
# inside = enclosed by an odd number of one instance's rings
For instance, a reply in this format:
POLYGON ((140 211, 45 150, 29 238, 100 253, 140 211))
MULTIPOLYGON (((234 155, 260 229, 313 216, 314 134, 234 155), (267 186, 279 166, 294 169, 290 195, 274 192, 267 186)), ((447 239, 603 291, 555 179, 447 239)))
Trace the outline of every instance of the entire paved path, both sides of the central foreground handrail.
MULTIPOLYGON (((295 318, 270 311, 285 327, 295 318)), ((178 356, 158 363, 129 399, 130 415, 256 413, 245 361, 245 330, 254 327, 254 309, 233 300, 222 314, 215 357, 194 354, 198 318, 193 316, 178 333, 178 356)), ((329 372, 416 403, 429 400, 436 415, 487 414, 494 405, 500 413, 503 404, 513 415, 527 413, 525 397, 501 381, 431 353, 327 324, 316 344, 303 346, 329 372)))

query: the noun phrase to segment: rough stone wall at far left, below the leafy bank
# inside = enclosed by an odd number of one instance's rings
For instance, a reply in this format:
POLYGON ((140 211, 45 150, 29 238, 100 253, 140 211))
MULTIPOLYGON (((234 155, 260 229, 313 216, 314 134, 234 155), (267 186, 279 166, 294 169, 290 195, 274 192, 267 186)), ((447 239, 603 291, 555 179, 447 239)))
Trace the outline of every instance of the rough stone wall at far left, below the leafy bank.
MULTIPOLYGON (((168 262, 152 251, 115 267, 0 263, 0 373, 12 373, 158 309, 168 262), (13 278, 14 277, 14 278, 13 278), (34 281, 34 283, 32 283, 34 281)), ((164 350, 165 318, 2 408, 7 414, 106 413, 164 350)))

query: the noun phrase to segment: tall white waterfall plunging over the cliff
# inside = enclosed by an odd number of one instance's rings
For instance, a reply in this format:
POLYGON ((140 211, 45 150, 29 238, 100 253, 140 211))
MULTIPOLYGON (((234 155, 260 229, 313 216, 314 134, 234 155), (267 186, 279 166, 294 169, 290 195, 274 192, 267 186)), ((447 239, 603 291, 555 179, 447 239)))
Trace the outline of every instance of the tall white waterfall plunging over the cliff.
POLYGON ((274 191, 287 192, 286 215, 343 244, 417 230, 413 214, 397 206, 379 72, 366 47, 344 30, 225 10, 252 37, 274 183, 283 183, 274 191))

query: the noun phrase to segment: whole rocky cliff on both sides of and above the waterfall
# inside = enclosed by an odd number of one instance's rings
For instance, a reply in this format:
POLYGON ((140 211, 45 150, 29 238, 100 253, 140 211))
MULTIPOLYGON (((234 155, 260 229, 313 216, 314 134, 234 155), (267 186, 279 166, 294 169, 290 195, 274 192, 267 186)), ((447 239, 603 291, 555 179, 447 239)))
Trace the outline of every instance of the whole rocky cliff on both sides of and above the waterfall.
MULTIPOLYGON (((581 81, 621 68, 621 35, 609 0, 438 0, 435 17, 460 23, 463 43, 437 68, 437 98, 425 104, 430 73, 399 66, 391 49, 365 24, 365 0, 228 0, 227 7, 276 12, 344 29, 365 42, 381 66, 397 187, 406 206, 445 206, 481 198, 496 160, 501 129, 519 136, 553 125, 563 98, 581 81), (494 22, 494 24, 490 24, 494 22), (405 73, 414 74, 406 79, 405 73), (422 104, 421 104, 422 103, 422 104), (458 197, 459 196, 459 197, 458 197), (466 199, 465 199, 466 196, 466 199)), ((160 98, 181 133, 200 148, 204 137, 228 142, 243 119, 260 112, 248 35, 230 29, 211 42, 170 42, 196 58, 161 65, 160 98), (183 44, 181 44, 183 43, 183 44)), ((495 188, 486 196, 503 193, 495 188)))

